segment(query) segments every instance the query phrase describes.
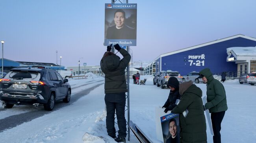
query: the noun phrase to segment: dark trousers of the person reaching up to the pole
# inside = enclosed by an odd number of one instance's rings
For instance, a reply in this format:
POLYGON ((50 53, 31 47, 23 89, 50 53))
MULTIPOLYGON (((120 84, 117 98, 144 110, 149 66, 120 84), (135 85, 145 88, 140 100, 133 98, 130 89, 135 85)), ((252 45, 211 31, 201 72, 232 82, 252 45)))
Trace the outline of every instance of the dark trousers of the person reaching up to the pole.
POLYGON ((107 108, 106 126, 108 135, 115 138, 115 111, 117 114, 118 137, 126 138, 126 119, 124 116, 125 109, 125 92, 108 93, 105 95, 107 108))

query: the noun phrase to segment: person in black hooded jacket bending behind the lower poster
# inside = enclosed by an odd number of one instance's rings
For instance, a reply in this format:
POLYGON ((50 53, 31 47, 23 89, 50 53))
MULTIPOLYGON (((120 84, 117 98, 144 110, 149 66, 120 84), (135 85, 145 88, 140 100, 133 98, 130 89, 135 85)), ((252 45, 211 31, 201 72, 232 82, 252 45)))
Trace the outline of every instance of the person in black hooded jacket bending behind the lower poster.
POLYGON ((176 100, 180 99, 179 93, 179 81, 175 77, 169 78, 167 82, 167 86, 171 89, 169 93, 169 97, 162 108, 165 108, 164 112, 167 113, 169 110, 173 110, 176 107, 176 100))

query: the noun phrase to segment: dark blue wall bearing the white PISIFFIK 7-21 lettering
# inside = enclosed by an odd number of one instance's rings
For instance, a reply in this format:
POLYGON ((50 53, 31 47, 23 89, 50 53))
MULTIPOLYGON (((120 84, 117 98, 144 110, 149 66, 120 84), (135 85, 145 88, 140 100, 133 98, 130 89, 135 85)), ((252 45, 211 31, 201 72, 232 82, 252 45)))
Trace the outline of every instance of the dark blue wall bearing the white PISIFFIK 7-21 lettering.
MULTIPOLYGON (((226 48, 253 47, 256 41, 238 37, 188 51, 161 57, 161 71, 179 71, 185 75, 191 71, 200 71, 206 67, 213 73, 236 72, 237 64, 226 62, 226 48)), ((157 64, 157 62, 156 62, 157 64)), ((157 65, 156 65, 157 68, 157 65)))

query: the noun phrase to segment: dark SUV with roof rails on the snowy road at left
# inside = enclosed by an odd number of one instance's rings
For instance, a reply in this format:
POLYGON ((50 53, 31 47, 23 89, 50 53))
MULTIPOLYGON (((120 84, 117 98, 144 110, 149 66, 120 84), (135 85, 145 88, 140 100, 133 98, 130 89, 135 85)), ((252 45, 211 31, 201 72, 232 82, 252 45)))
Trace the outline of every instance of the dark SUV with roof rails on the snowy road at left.
POLYGON ((50 69, 14 68, 0 79, 0 100, 5 108, 16 105, 44 105, 53 110, 55 101, 69 103, 71 87, 69 80, 50 69))

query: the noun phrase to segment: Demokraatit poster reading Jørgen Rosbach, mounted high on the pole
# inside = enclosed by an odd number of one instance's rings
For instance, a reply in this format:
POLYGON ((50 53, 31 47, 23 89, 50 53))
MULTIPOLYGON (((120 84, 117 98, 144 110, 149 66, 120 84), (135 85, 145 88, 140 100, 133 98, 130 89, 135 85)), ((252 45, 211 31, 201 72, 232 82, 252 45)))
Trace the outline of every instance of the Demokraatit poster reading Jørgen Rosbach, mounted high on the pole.
POLYGON ((104 46, 136 46, 137 4, 105 4, 104 46))

